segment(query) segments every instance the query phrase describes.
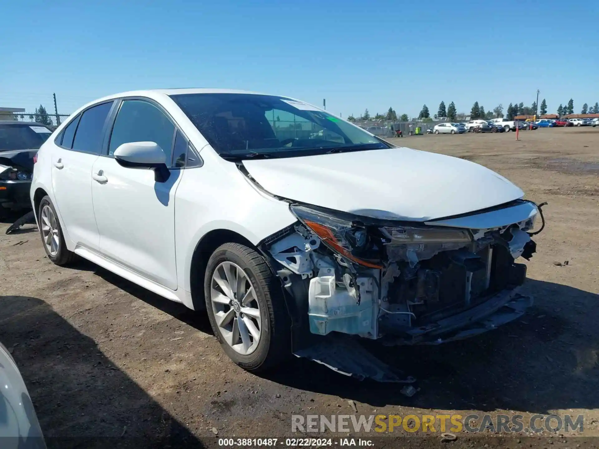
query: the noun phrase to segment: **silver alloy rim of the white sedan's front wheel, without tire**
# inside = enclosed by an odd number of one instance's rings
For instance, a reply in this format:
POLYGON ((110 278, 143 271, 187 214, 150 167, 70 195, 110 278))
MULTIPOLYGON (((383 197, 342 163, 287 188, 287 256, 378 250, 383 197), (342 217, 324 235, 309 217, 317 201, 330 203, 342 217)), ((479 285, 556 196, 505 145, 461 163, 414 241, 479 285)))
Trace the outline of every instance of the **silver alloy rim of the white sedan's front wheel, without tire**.
POLYGON ((227 344, 243 355, 256 350, 262 322, 256 291, 246 272, 233 262, 220 263, 210 280, 216 324, 227 344))

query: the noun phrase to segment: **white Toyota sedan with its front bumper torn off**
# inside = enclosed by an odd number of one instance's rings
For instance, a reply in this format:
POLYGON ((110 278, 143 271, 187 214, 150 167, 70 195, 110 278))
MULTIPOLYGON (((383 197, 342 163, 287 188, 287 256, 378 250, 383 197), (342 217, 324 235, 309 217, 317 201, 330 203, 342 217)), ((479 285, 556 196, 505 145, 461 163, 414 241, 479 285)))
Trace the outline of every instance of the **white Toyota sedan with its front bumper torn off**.
POLYGON ((515 259, 534 253, 540 211, 523 196, 305 102, 216 89, 81 107, 40 148, 31 187, 50 260, 81 256, 207 310, 252 370, 330 333, 438 343, 521 316, 515 259))

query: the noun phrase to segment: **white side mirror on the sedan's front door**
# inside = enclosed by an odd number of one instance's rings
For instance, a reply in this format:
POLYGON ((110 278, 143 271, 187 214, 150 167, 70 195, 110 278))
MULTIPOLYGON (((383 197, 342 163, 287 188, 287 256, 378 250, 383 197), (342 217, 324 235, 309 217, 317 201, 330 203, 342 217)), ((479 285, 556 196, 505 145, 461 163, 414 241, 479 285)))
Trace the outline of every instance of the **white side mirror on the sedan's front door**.
POLYGON ((167 167, 167 155, 156 142, 127 142, 114 150, 114 159, 126 168, 149 168, 154 170, 154 180, 164 183, 171 172, 167 167))

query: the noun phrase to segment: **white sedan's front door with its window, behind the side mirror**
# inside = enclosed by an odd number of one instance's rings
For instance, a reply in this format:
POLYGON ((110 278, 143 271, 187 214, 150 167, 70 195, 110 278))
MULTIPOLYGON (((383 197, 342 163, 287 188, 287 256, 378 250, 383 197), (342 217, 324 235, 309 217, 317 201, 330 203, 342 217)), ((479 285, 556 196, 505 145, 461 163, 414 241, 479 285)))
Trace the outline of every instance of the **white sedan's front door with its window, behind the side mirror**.
POLYGON ((100 253, 138 274, 177 289, 175 263, 175 191, 183 171, 173 167, 172 154, 187 139, 159 105, 146 99, 125 99, 114 119, 105 154, 93 165, 93 210, 100 253), (177 140, 175 135, 177 134, 177 140), (125 168, 113 157, 127 142, 156 142, 167 155, 170 177, 156 182, 150 169, 125 168), (175 151, 172 151, 175 145, 175 151))

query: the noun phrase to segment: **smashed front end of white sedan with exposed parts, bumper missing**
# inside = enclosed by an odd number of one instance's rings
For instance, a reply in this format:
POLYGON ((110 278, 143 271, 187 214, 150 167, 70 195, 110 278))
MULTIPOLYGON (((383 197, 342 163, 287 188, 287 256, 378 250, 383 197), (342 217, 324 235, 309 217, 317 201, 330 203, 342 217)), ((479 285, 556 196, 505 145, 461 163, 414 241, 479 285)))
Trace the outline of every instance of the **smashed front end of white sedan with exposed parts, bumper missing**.
MULTIPOLYGON (((532 202, 425 223, 290 208, 298 222, 262 250, 305 333, 437 344, 493 329, 532 304, 518 293, 526 265, 515 263, 535 252, 532 202)), ((301 346, 296 338, 294 350, 301 346)))

